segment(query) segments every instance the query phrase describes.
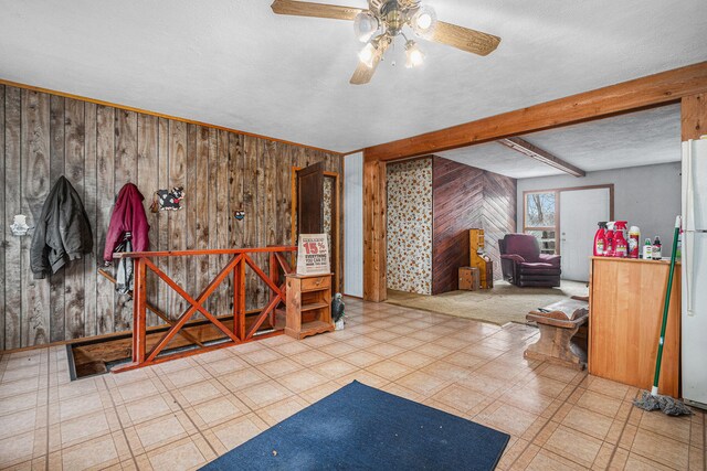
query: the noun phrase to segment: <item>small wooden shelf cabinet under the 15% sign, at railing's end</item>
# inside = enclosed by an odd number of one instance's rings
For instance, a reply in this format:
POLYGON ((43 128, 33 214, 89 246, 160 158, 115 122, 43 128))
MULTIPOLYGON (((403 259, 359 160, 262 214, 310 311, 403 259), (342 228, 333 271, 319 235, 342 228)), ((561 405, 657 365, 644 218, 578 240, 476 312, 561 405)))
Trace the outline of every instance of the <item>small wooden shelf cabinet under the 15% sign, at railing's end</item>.
POLYGON ((304 339, 331 331, 331 275, 287 275, 285 334, 304 339))

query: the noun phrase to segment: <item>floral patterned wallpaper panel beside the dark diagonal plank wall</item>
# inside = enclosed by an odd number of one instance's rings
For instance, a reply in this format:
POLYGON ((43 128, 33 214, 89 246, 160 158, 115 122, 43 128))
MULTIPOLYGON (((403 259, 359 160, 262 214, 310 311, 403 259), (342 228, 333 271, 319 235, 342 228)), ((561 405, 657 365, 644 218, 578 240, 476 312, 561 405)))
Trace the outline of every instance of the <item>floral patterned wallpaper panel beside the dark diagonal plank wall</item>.
POLYGON ((388 288, 432 293, 432 158, 387 165, 388 288))

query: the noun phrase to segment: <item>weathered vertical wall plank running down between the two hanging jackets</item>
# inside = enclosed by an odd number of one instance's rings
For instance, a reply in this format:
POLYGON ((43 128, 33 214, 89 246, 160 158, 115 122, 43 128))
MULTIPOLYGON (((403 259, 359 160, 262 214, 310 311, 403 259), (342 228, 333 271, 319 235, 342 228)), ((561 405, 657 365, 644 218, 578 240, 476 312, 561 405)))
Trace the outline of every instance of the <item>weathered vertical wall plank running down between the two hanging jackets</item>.
MULTIPOLYGON (((106 245, 106 231, 110 222, 110 212, 115 203, 115 109, 98 106, 96 109, 96 258, 103 265, 103 250, 106 245)), ((96 279, 96 331, 105 334, 115 331, 113 312, 115 289, 104 277, 96 279)))

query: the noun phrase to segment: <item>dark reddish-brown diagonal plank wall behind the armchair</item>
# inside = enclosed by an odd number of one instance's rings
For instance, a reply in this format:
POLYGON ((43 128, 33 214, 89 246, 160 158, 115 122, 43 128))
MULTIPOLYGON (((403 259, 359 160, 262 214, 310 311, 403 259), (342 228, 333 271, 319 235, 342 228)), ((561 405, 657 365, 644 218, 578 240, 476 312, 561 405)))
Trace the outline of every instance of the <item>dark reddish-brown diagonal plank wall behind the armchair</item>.
POLYGON ((469 263, 468 229, 481 227, 500 279, 498 238, 516 231, 516 180, 432 158, 432 293, 458 289, 458 268, 469 263))

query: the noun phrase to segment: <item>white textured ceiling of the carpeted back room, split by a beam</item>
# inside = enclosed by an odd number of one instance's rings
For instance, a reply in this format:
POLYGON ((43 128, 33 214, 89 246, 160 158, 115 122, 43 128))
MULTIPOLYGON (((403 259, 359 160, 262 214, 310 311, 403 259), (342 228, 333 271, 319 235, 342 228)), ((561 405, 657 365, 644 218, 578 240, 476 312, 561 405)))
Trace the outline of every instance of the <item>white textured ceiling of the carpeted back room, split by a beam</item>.
MULTIPOLYGON (((587 172, 677 162, 680 160, 680 107, 669 105, 523 138, 587 172)), ((516 179, 563 174, 496 142, 439 156, 516 179)))

